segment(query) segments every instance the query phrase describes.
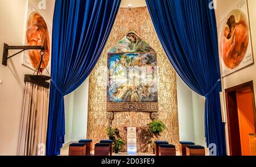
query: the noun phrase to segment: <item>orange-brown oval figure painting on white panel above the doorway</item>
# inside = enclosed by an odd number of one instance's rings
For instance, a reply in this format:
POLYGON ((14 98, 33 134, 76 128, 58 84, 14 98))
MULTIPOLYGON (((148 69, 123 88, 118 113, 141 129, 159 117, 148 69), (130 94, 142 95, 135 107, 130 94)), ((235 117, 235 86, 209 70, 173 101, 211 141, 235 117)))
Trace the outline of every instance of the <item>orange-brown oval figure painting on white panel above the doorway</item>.
POLYGON ((222 77, 253 64, 247 1, 241 0, 218 25, 222 77))

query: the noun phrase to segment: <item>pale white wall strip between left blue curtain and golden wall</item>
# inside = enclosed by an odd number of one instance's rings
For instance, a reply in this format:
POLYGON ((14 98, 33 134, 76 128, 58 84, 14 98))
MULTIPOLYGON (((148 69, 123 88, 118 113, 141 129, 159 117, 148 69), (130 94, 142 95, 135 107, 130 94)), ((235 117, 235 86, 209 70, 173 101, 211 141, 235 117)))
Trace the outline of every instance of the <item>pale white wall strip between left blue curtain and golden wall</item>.
POLYGON ((65 96, 65 143, 86 139, 89 78, 65 96))

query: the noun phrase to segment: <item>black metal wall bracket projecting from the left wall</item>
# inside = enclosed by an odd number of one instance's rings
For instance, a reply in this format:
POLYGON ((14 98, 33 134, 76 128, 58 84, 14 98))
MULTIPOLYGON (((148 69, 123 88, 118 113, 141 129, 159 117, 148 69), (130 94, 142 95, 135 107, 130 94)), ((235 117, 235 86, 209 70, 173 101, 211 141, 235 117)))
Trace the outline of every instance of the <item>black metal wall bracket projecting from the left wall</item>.
POLYGON ((42 50, 44 51, 44 46, 9 46, 6 43, 3 45, 3 60, 2 65, 7 65, 7 60, 10 59, 13 56, 18 55, 21 52, 24 52, 26 50, 42 50), (8 57, 9 50, 22 50, 18 53, 15 53, 14 55, 11 55, 8 57))

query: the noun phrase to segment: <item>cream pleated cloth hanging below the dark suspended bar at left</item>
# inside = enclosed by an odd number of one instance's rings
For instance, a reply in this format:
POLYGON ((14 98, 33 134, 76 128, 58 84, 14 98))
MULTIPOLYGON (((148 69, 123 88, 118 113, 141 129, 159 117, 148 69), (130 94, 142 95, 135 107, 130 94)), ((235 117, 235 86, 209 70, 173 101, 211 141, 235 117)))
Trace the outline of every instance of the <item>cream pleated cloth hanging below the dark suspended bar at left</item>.
POLYGON ((26 82, 22 123, 19 137, 19 156, 45 156, 49 90, 26 82))

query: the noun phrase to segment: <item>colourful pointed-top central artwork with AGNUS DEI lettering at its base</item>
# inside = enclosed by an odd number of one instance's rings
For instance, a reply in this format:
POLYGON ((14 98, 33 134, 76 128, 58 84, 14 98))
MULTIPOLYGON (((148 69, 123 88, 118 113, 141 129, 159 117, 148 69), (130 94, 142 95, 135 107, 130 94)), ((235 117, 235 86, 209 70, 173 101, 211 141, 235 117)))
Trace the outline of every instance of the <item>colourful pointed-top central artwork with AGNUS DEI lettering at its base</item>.
POLYGON ((107 111, 158 111, 156 52, 135 32, 108 53, 107 111))

